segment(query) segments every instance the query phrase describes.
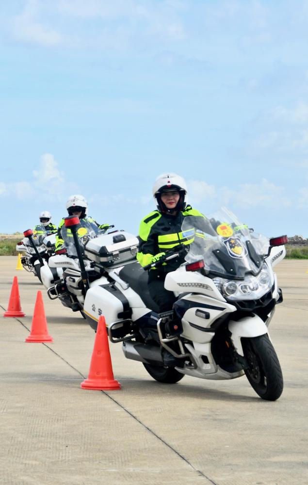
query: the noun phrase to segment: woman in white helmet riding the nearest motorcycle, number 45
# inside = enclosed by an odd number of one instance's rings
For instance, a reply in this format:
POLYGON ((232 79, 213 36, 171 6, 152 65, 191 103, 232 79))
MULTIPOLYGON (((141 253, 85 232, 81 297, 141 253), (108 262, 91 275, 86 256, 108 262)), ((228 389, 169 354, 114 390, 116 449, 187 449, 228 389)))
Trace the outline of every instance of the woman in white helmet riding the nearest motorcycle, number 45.
MULTIPOLYGON (((160 175, 153 186, 153 196, 157 203, 157 210, 150 212, 141 221, 139 228, 139 251, 137 259, 141 266, 163 260, 166 251, 178 246, 179 243, 188 245, 194 241, 181 232, 185 217, 198 218, 195 226, 205 230, 206 217, 190 205, 186 205, 187 187, 185 180, 177 174, 160 175)), ((151 268, 148 273, 148 290, 152 299, 158 304, 160 313, 172 310, 176 297, 173 291, 164 288, 166 274, 175 271, 185 260, 182 254, 178 258, 165 261, 159 268, 151 268)), ((172 319, 166 324, 168 333, 180 334, 181 322, 172 319), (167 326, 168 325, 168 326, 167 326)), ((164 362, 168 365, 176 364, 177 359, 168 353, 163 353, 164 362), (165 354, 165 355, 164 355, 165 354)))

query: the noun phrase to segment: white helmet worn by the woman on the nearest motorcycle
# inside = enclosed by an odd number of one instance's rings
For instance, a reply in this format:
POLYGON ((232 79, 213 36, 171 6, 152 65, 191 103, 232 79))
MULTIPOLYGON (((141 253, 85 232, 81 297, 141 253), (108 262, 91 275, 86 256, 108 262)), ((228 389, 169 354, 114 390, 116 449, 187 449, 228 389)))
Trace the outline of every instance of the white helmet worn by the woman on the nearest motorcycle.
POLYGON ((180 198, 176 210, 184 210, 186 206, 187 186, 183 177, 177 174, 162 174, 154 183, 153 196, 156 199, 158 210, 161 212, 168 212, 166 206, 162 202, 161 195, 163 192, 171 192, 178 190, 180 198))

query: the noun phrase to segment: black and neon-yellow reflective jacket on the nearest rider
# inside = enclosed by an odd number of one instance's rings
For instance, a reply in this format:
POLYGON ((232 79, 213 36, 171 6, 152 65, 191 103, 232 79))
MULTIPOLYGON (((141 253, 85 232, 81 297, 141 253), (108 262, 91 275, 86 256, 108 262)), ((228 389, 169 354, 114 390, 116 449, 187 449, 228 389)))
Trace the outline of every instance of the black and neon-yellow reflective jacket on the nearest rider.
MULTIPOLYGON (((198 223, 194 226, 200 228, 206 220, 201 212, 187 206, 176 216, 162 214, 158 210, 154 210, 141 221, 137 259, 142 266, 150 264, 153 256, 158 253, 166 252, 180 243, 187 245, 194 241, 194 231, 185 231, 183 234, 181 229, 186 216, 198 218, 198 223)), ((164 263, 164 267, 160 271, 174 271, 182 262, 184 262, 184 257, 171 259, 168 264, 164 263)))

